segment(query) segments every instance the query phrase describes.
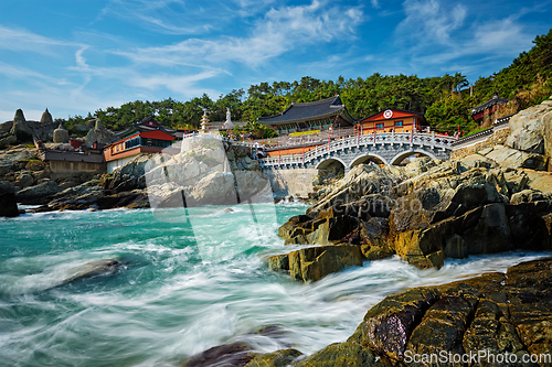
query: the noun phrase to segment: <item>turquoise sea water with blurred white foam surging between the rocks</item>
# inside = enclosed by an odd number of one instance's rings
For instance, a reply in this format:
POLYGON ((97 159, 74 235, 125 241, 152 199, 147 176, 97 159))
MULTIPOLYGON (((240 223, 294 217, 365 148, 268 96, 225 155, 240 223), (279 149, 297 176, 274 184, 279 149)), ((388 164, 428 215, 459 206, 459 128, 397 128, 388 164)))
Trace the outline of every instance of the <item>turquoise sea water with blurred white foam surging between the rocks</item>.
POLYGON ((241 341, 311 354, 347 339, 367 310, 405 288, 503 271, 507 253, 417 270, 397 258, 317 283, 264 258, 288 251, 277 227, 300 205, 25 214, 0 219, 1 366, 178 366, 241 341), (117 258, 115 274, 65 285, 71 269, 117 258), (256 333, 269 326, 272 333, 256 333))

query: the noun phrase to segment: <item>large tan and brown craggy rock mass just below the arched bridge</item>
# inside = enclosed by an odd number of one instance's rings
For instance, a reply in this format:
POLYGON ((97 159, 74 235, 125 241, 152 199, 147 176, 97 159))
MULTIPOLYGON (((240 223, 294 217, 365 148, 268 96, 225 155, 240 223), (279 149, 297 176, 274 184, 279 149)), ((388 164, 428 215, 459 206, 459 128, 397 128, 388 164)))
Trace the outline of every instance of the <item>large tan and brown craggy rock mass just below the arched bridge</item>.
POLYGON ((365 259, 396 253, 437 269, 446 258, 550 249, 550 173, 500 165, 492 151, 402 168, 359 165, 278 234, 286 244, 348 244, 365 259))

